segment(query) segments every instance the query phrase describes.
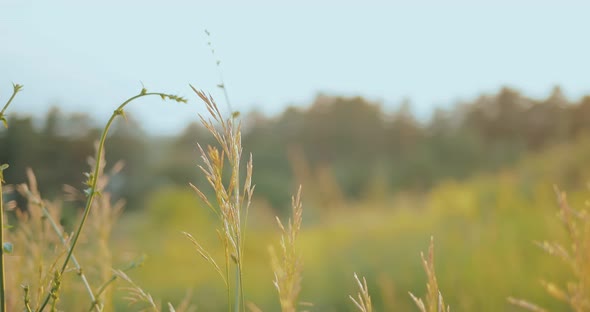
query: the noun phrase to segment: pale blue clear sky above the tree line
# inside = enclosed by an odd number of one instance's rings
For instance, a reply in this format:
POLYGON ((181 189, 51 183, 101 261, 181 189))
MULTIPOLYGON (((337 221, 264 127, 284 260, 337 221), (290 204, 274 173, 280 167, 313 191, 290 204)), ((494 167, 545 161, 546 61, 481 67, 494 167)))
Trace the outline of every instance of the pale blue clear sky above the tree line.
POLYGON ((59 104, 106 120, 143 82, 190 99, 129 110, 146 130, 172 133, 203 111, 188 83, 223 103, 205 28, 242 111, 277 113, 318 92, 387 107, 407 97, 421 116, 502 85, 590 94, 582 1, 246 2, 0 0, 0 103, 14 81, 25 89, 12 111, 59 104))

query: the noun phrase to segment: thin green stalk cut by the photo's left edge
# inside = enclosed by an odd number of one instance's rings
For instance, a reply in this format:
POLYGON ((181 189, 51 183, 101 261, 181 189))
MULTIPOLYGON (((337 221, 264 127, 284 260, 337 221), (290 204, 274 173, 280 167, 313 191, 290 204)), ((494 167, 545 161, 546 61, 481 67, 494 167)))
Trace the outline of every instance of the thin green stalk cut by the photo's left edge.
MULTIPOLYGON (((22 90, 23 86, 19 85, 19 84, 12 84, 12 95, 10 96, 10 98, 8 99, 8 101, 6 102, 6 104, 4 105, 4 107, 2 108, 2 110, 0 111, 0 121, 2 121, 2 123, 4 124, 5 128, 8 128, 8 121, 6 120, 6 117, 4 115, 4 113, 6 112, 6 109, 8 109, 8 106, 10 105, 10 103, 12 103, 12 100, 14 99, 14 97, 16 96, 16 94, 22 90)), ((8 164, 0 164, 0 244, 2 245, 2 248, 0 249, 0 300, 2 301, 0 303, 0 311, 1 312, 5 312, 6 311, 6 272, 4 270, 4 254, 7 251, 10 251, 10 249, 12 248, 11 245, 5 245, 4 242, 4 198, 2 196, 2 184, 4 183, 4 170, 8 168, 8 164)))

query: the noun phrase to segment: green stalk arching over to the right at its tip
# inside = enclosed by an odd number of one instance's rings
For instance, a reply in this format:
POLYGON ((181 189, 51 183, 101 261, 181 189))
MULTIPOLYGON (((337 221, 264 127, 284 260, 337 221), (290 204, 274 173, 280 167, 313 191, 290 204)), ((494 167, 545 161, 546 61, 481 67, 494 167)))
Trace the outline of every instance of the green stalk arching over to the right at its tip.
MULTIPOLYGON (((158 92, 149 92, 148 93, 147 90, 145 88, 143 88, 143 89, 141 89, 141 92, 138 95, 127 99, 125 102, 123 102, 121 105, 119 105, 119 107, 113 112, 113 114, 111 115, 111 118, 109 118, 109 121, 107 122, 105 128, 103 129, 102 135, 100 137, 100 141, 98 143, 98 149, 96 151, 96 156, 94 158, 94 159, 96 159, 94 173, 87 174, 88 180, 85 183, 88 186, 88 188, 85 190, 85 193, 87 195, 86 205, 84 207, 82 219, 80 220, 80 223, 78 224, 78 227, 77 227, 76 231, 74 232, 74 236, 72 238, 72 245, 70 246, 68 253, 66 254, 66 258, 64 259, 64 262, 63 262, 61 269, 59 271, 60 275, 65 272, 65 270, 68 266, 68 263, 70 262, 70 259, 72 258, 72 254, 74 252, 74 249, 76 248, 76 244, 78 243, 78 239, 80 238, 80 233, 82 232, 82 229, 84 228, 84 224, 86 223, 86 219, 88 219, 88 215, 90 214, 90 208, 92 207, 94 197, 97 194, 100 195, 100 192, 98 192, 96 190, 97 184, 98 184, 98 175, 99 175, 99 170, 100 170, 100 161, 102 159, 102 154, 104 151, 104 144, 105 144, 109 129, 111 128, 111 125, 113 124, 113 121, 118 116, 122 116, 123 118, 126 118, 125 111, 123 109, 125 108, 125 106, 127 106, 127 104, 133 102, 136 99, 146 97, 146 96, 152 96, 152 95, 160 96, 162 98, 162 100, 170 99, 170 100, 174 100, 176 102, 186 103, 186 100, 182 97, 172 95, 172 94, 158 93, 158 92)), ((45 307, 49 303, 50 297, 51 297, 51 294, 47 294, 47 296, 45 297, 45 300, 43 301, 43 304, 40 306, 38 311, 43 311, 43 309, 45 309, 45 307)))

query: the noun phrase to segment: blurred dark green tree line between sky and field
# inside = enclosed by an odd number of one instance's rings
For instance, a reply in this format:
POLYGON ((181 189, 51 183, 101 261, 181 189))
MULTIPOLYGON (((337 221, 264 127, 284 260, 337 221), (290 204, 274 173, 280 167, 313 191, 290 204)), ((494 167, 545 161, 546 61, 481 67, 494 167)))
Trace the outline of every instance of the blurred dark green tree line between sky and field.
MULTIPOLYGON (((571 102, 556 87, 548 98, 533 99, 503 88, 450 109, 437 108, 421 122, 409 101, 391 112, 361 97, 319 95, 308 108, 289 107, 274 117, 251 112, 243 119, 257 196, 282 208, 301 182, 319 181, 312 185, 317 191, 332 183, 344 198, 358 199, 375 190, 421 192, 442 179, 511 165, 524 153, 587 131, 590 96, 571 102)), ((41 123, 12 115, 10 127, 0 131, 0 163, 11 166, 6 181, 24 182, 25 168, 32 167, 49 197, 63 184, 81 187, 100 135, 97 124, 87 115, 66 115, 57 108, 41 123)), ((137 208, 158 186, 204 183, 197 142, 211 143, 198 123, 176 137, 151 137, 133 120, 117 122, 107 141, 107 162, 124 160, 126 166, 113 178, 111 192, 137 208)))

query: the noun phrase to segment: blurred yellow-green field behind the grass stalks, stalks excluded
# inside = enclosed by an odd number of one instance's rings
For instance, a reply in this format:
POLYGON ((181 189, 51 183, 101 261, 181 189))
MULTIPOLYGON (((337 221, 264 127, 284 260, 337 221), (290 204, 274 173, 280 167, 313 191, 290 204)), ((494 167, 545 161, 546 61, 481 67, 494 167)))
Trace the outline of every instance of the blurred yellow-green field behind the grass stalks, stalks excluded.
MULTIPOLYGON (((304 186, 301 300, 313 303, 313 311, 352 311, 348 294, 355 292, 352 275, 358 272, 367 277, 376 310, 411 311, 408 291, 425 292, 419 254, 432 235, 439 284, 454 310, 517 311, 506 300, 513 296, 563 311, 566 306, 547 296, 539 280, 564 282, 567 268, 534 242, 564 241, 553 185, 567 190, 572 206, 586 205, 589 156, 590 144, 579 140, 531 154, 512 169, 446 180, 425 194, 348 201, 337 210, 306 200, 304 186)), ((188 187, 160 190, 147 202, 145 212, 124 214, 114 253, 147 254, 145 266, 130 275, 163 302, 179 302, 192 289, 199 310, 223 310, 221 279, 181 234, 190 232, 221 259, 209 210, 188 187)), ((277 311, 268 253, 278 242, 273 213, 260 201, 248 221, 246 298, 277 311)), ((121 298, 117 304, 125 309, 121 298)))

